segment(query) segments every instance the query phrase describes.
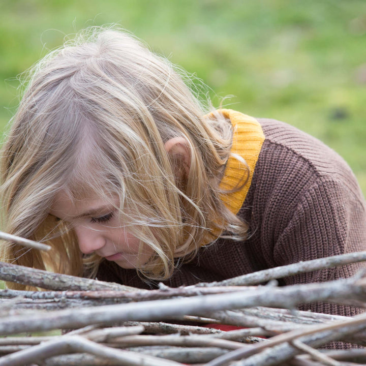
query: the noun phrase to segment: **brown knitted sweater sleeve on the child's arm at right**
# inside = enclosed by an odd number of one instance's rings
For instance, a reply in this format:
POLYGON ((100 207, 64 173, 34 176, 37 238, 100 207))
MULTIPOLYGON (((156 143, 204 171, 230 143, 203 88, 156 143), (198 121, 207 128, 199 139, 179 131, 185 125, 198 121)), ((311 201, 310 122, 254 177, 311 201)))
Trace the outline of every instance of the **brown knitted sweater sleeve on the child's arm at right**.
MULTIPOLYGON (((277 265, 366 250, 366 214, 362 196, 341 181, 320 177, 301 197, 287 227, 273 248, 277 265)), ((365 263, 318 270, 283 279, 284 284, 348 278, 365 263)), ((329 303, 303 305, 301 310, 352 316, 361 312, 329 303)))

